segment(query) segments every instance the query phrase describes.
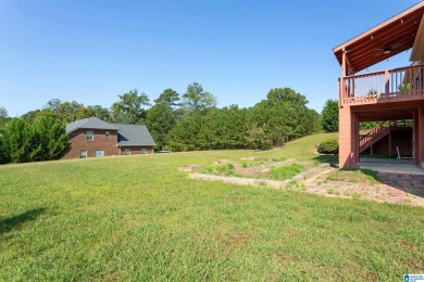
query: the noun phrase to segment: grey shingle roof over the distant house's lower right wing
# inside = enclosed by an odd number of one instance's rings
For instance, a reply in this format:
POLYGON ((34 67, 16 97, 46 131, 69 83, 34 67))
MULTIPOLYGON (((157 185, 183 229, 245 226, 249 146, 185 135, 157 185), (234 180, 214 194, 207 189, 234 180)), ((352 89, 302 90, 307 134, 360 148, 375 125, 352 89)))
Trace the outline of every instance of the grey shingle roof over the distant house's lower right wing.
POLYGON ((117 144, 120 146, 155 145, 153 138, 145 125, 111 125, 119 128, 117 144))

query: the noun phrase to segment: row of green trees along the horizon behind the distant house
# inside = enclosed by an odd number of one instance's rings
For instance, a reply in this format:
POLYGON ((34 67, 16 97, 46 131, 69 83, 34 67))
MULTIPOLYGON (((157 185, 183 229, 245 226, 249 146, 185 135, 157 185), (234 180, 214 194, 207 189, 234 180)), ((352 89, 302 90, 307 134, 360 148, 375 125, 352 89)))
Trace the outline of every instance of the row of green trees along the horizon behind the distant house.
POLYGON ((307 105, 305 97, 295 90, 275 88, 252 107, 217 107, 216 98, 204 91, 200 84, 194 82, 183 94, 165 89, 153 103, 146 93, 134 89, 119 95, 119 101, 110 107, 52 99, 42 108, 16 118, 8 117, 7 111, 0 107, 0 154, 3 155, 0 163, 60 158, 68 150, 63 145, 66 142, 61 141, 62 144, 58 145, 62 153, 37 144, 40 140, 59 142, 65 136, 66 124, 91 116, 108 123, 145 124, 157 142, 157 150, 267 150, 322 130, 321 115, 307 105), (42 131, 43 126, 53 127, 55 131, 42 131), (59 132, 58 128, 62 131, 59 132), (17 131, 33 132, 33 136, 13 137, 17 131), (13 144, 18 139, 26 141, 13 144), (29 158, 4 153, 18 151, 16 146, 24 148, 24 144, 37 148, 36 152, 21 154, 30 155, 29 158), (4 157, 4 154, 9 156, 4 157))

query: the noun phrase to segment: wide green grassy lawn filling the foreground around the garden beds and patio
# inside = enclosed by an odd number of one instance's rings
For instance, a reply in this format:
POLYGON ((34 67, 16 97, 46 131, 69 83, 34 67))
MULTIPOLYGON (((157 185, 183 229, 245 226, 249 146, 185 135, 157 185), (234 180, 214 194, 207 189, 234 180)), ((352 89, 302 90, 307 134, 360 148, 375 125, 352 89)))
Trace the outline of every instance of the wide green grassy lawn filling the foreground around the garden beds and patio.
MULTIPOLYGON (((327 162, 319 134, 261 156, 327 162)), ((0 166, 0 280, 400 281, 424 209, 202 182, 215 151, 0 166)), ((335 176, 337 177, 337 176, 335 176)))

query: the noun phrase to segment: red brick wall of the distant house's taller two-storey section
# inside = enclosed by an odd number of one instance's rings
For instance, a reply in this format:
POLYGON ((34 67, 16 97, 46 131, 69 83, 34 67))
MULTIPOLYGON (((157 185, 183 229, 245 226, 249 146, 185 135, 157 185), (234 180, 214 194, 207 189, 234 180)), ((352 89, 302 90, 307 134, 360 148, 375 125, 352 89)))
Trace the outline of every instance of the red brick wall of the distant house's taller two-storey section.
POLYGON ((97 150, 103 150, 104 156, 119 155, 117 130, 91 130, 95 132, 93 141, 87 141, 87 129, 71 132, 71 151, 63 158, 78 158, 82 150, 87 150, 87 157, 96 157, 97 150), (105 137, 105 131, 110 132, 109 137, 105 137))

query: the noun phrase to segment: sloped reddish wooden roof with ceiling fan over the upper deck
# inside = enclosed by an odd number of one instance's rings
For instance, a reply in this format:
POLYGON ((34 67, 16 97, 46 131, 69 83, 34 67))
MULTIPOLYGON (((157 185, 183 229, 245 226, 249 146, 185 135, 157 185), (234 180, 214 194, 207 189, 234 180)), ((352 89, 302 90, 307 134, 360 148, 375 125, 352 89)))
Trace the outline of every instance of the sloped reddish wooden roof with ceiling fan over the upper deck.
POLYGON ((353 74, 399 54, 413 47, 423 14, 424 1, 336 47, 334 54, 341 65, 346 50, 353 74))

